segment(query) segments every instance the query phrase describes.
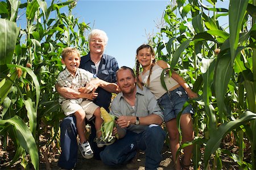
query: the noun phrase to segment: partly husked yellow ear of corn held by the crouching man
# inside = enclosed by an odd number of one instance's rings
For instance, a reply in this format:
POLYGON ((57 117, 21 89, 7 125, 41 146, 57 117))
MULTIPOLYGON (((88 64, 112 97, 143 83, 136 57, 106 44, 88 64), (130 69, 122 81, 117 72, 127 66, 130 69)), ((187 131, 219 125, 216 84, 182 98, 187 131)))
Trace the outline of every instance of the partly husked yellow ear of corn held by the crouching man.
MULTIPOLYGON (((103 141, 110 142, 113 139, 112 133, 115 126, 115 116, 109 114, 103 107, 100 108, 103 123, 101 124, 101 135, 103 141)), ((115 134, 118 139, 118 134, 115 134)))

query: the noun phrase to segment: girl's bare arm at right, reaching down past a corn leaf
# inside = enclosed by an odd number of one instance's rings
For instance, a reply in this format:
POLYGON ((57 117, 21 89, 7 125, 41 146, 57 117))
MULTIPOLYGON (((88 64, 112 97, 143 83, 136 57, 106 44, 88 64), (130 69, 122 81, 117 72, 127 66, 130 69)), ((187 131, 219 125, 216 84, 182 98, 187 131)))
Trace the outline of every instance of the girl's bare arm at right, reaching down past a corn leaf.
MULTIPOLYGON (((166 63, 162 60, 159 60, 157 63, 163 69, 166 69, 166 68, 170 69, 170 65, 168 65, 168 63, 166 63)), ((180 84, 180 86, 182 86, 184 88, 184 90, 187 92, 189 98, 192 99, 192 98, 197 97, 197 94, 191 90, 191 88, 188 86, 188 84, 185 82, 185 80, 179 74, 177 74, 175 71, 172 71, 172 78, 175 79, 180 84)))

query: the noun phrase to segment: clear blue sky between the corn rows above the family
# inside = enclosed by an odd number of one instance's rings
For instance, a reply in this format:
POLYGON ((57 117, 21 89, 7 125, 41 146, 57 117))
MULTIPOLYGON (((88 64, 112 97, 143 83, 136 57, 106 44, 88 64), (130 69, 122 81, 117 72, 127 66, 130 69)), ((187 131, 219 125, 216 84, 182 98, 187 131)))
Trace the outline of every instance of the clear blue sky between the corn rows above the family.
POLYGON ((135 66, 136 49, 147 42, 147 33, 159 32, 155 22, 162 18, 170 1, 85 1, 79 0, 73 15, 104 30, 108 37, 105 53, 117 59, 119 67, 135 66), (145 32, 146 31, 146 32, 145 32))

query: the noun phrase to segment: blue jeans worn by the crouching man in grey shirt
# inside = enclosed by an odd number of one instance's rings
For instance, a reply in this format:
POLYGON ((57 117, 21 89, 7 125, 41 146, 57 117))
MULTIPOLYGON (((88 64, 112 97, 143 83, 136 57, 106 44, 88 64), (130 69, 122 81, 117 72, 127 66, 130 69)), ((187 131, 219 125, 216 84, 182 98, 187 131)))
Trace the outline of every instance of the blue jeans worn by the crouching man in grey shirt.
POLYGON ((125 137, 100 152, 101 160, 106 165, 128 163, 137 150, 145 151, 146 169, 156 169, 162 160, 162 148, 166 133, 158 125, 150 125, 142 133, 127 131, 125 137))

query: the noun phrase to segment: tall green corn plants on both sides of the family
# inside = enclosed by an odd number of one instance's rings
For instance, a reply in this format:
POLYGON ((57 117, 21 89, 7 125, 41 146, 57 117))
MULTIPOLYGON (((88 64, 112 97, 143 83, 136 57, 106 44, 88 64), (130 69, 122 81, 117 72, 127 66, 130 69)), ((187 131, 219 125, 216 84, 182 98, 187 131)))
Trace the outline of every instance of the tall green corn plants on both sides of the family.
MULTIPOLYGON (((221 169, 223 157, 240 169, 256 169, 256 0, 230 0, 228 8, 216 7, 220 1, 171 1, 148 43, 199 94, 188 102, 195 109, 196 137, 179 149, 194 146, 194 169, 221 169), (229 20, 226 28, 218 22, 221 16, 229 20)), ((14 146, 11 163, 21 159, 24 168, 31 163, 39 169, 39 158, 60 148, 60 53, 66 46, 88 53, 90 27, 73 16, 75 6, 76 1, 0 2, 0 139, 3 149, 14 146), (17 27, 19 12, 26 15, 24 29, 17 27), (50 135, 43 136, 45 131, 50 135)))

